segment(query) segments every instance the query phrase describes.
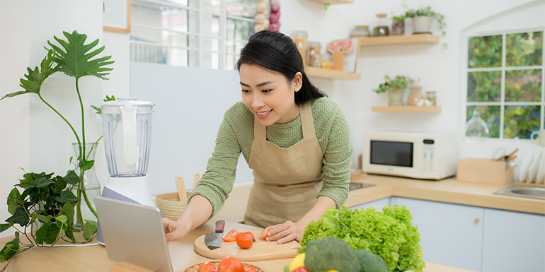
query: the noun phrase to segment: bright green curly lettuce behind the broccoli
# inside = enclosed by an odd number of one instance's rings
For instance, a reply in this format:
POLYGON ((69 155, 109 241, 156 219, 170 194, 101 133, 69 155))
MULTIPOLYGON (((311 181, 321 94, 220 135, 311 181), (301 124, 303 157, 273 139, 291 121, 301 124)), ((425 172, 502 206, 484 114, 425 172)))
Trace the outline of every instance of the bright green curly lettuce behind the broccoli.
POLYGON ((306 252, 312 240, 331 236, 344 240, 355 250, 366 249, 381 256, 389 271, 421 272, 425 267, 424 254, 418 229, 411 223, 411 212, 398 205, 382 210, 328 208, 321 220, 306 226, 298 253, 306 252))

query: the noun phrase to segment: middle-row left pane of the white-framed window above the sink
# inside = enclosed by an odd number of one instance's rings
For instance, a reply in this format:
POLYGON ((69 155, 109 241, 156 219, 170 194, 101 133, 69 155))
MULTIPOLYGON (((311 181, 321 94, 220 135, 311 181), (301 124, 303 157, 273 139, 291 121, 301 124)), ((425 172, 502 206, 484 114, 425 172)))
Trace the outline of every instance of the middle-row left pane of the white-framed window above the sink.
POLYGON ((467 102, 499 102, 500 99, 501 71, 467 74, 467 102))

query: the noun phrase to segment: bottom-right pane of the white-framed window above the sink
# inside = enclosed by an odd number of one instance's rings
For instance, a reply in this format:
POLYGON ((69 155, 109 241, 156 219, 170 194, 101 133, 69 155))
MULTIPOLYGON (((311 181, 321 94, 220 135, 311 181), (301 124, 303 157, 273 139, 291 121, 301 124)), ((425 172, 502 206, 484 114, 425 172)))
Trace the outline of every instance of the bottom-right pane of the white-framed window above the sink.
POLYGON ((539 130, 540 106, 505 106, 503 138, 530 138, 539 130))

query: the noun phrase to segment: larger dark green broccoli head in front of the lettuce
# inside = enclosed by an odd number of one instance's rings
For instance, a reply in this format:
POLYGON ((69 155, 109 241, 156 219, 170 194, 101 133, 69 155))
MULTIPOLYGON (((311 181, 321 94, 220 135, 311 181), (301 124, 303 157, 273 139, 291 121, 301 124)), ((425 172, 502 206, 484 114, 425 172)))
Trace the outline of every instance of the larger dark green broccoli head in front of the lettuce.
POLYGON ((309 271, 360 272, 356 252, 349 244, 335 237, 312 240, 306 247, 304 266, 309 271))

